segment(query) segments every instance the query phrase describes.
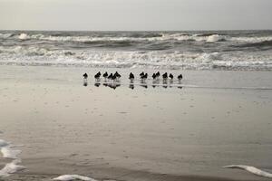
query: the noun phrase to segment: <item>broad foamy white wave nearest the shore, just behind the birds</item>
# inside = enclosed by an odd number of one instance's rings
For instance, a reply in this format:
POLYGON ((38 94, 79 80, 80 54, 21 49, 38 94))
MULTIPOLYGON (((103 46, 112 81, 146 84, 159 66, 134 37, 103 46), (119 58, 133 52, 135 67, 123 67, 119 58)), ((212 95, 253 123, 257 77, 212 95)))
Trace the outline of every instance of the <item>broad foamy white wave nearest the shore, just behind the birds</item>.
MULTIPOLYGON (((159 46, 160 48, 160 46, 159 46)), ((221 52, 161 51, 68 51, 42 47, 1 47, 0 63, 42 66, 87 66, 105 68, 159 68, 182 70, 272 71, 272 55, 224 54, 221 52)))

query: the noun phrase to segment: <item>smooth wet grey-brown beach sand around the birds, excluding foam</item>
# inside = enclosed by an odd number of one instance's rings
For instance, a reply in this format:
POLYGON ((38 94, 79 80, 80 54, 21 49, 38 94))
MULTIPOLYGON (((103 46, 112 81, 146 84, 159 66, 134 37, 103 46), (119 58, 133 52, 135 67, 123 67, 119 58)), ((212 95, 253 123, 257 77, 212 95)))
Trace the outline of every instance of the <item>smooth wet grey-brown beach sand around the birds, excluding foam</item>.
POLYGON ((135 81, 132 90, 122 77, 113 90, 92 76, 83 86, 82 74, 98 69, 0 70, 0 138, 26 167, 5 180, 267 180, 222 168, 233 164, 272 172, 271 72, 182 71, 182 89, 135 81))

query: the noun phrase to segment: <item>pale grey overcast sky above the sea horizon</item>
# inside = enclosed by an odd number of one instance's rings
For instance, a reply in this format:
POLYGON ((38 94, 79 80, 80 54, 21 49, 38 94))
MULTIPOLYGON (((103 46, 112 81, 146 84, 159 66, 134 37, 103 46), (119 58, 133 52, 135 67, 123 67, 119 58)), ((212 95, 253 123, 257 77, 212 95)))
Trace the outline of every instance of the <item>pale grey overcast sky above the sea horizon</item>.
POLYGON ((272 29, 272 0, 0 0, 0 30, 272 29))

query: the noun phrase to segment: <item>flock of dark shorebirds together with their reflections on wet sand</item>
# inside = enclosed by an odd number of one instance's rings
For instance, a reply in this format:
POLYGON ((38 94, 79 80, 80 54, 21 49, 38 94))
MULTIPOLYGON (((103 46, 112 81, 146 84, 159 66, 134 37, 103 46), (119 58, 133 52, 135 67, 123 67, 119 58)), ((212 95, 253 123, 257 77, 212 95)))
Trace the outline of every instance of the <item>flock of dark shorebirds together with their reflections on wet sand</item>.
MULTIPOLYGON (((140 77, 140 81, 141 81, 140 86, 142 86, 144 88, 148 88, 147 83, 146 83, 146 80, 149 77, 148 73, 142 71, 139 74, 139 77, 140 77)), ((153 80, 152 81, 152 87, 156 87, 156 86, 160 85, 160 71, 157 71, 156 73, 153 73, 151 77, 152 77, 152 80, 153 80)), ((88 74, 84 73, 83 78, 84 78, 83 86, 87 86, 88 85, 88 82, 87 82, 88 74)), ((114 90, 117 87, 121 86, 121 83, 120 83, 121 82, 120 81, 121 74, 118 71, 115 71, 115 73, 108 73, 106 71, 103 74, 100 71, 98 71, 94 75, 94 79, 95 79, 94 86, 99 87, 101 85, 101 79, 102 78, 104 79, 104 81, 103 81, 104 86, 110 87, 110 88, 112 88, 114 90)), ((164 88, 167 88, 168 81, 170 81, 170 84, 172 84, 173 81, 174 81, 173 74, 172 73, 168 74, 168 72, 163 73, 161 75, 161 78, 162 78, 162 83, 163 83, 164 88)), ((178 79, 179 83, 181 83, 182 78, 183 78, 182 74, 177 76, 177 79, 178 79)), ((135 75, 132 72, 129 74, 128 79, 130 80, 129 87, 131 89, 134 89, 135 75)), ((182 87, 178 86, 178 88, 181 89, 182 87)))

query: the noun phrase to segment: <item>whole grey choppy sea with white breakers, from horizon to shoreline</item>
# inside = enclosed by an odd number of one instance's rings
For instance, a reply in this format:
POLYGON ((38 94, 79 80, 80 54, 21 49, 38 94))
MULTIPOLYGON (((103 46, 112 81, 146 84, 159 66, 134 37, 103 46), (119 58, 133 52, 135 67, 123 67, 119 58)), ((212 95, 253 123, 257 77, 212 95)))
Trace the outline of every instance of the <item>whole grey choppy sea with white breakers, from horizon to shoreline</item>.
POLYGON ((0 31, 0 64, 272 71, 272 31, 0 31))

